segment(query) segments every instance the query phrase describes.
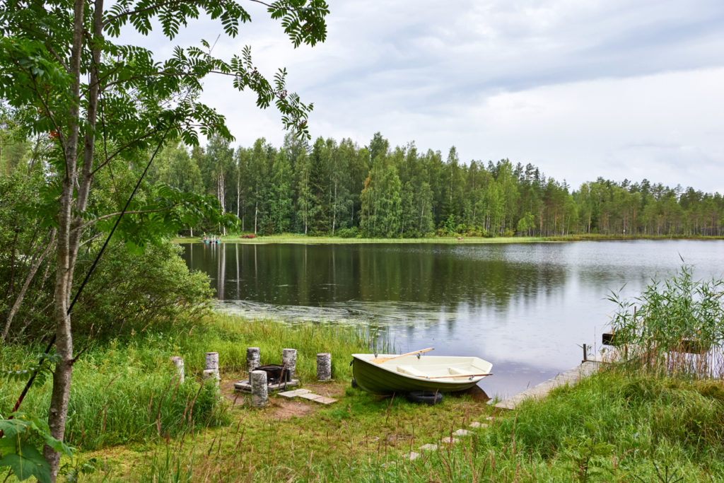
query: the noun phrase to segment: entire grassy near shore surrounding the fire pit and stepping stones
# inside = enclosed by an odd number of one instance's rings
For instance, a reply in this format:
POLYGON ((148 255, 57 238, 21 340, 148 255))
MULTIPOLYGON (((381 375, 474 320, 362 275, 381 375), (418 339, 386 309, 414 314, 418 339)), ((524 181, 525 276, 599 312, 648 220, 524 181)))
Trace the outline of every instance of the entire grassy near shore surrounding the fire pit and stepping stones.
MULTIPOLYGON (((374 343, 351 327, 214 315, 174 337, 144 332, 93 345, 74 372, 68 434, 78 450, 64 471, 119 482, 724 479, 720 381, 612 368, 510 413, 494 414, 469 395, 418 406, 350 387, 350 353, 374 343), (263 364, 297 348, 305 386, 337 403, 273 397, 255 409, 243 396, 217 403, 211 385, 200 384, 203 354, 219 352, 222 392, 230 396, 245 376, 249 346, 261 348, 263 364), (332 353, 329 383, 316 382, 315 356, 323 351, 332 353), (174 379, 172 355, 185 358, 184 385, 174 379), (473 421, 489 426, 473 429, 473 421), (437 451, 418 449, 455 429, 472 433, 437 451), (421 457, 405 458, 411 450, 421 457)), ((8 369, 31 359, 12 347, 0 354, 8 369)), ((0 411, 7 411, 20 385, 0 382, 0 411)), ((43 413, 48 390, 49 382, 35 387, 25 410, 43 413)))

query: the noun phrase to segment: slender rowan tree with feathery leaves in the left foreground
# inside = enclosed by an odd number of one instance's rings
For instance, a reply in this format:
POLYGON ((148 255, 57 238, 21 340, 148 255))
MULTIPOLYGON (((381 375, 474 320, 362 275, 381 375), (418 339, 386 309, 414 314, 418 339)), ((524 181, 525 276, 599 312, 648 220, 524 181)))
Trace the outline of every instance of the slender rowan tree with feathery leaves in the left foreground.
MULTIPOLYGON (((287 93, 285 70, 268 80, 256 69, 248 46, 224 60, 214 56, 209 42, 201 41, 200 46, 176 47, 169 59, 158 61, 152 51, 120 42, 121 30, 148 35, 159 25, 172 40, 180 28, 204 15, 218 21, 225 34, 236 36, 251 20, 251 7, 264 9, 261 5, 233 0, 5 0, 0 8, 0 98, 16 110, 28 134, 49 135, 55 147, 48 177, 52 202, 38 216, 56 225, 57 363, 49 427, 57 440, 64 437, 77 359, 70 308, 78 248, 90 225, 117 219, 121 211, 98 213, 89 205, 98 172, 116 163, 138 162, 169 139, 193 146, 200 135, 232 138, 222 114, 198 101, 201 83, 210 75, 229 77, 239 91, 251 91, 260 108, 274 103, 287 128, 306 133, 311 110, 287 93)), ((324 0, 274 1, 266 12, 279 20, 294 46, 326 38, 329 11, 324 0)), ((174 229, 174 208, 188 206, 190 199, 167 190, 153 206, 131 211, 138 222, 155 217, 156 227, 174 229), (160 223, 164 221, 169 223, 160 223)), ((195 201, 209 206, 206 199, 195 201)), ((145 235, 153 236, 137 233, 134 243, 142 245, 145 235)), ((43 455, 55 479, 59 455, 49 446, 43 455)))

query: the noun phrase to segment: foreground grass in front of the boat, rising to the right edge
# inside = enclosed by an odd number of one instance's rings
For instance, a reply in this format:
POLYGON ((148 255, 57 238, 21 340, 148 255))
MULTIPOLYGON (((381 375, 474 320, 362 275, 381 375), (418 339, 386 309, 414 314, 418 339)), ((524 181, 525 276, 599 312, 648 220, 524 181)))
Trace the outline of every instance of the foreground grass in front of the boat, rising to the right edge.
POLYGON ((719 383, 607 371, 498 415, 467 396, 446 397, 431 407, 376 398, 345 381, 311 387, 339 400, 329 408, 279 398, 261 410, 236 406, 227 413, 226 427, 85 458, 97 458, 94 477, 110 481, 724 479, 719 383), (305 409, 290 414, 290 405, 305 409), (473 421, 489 426, 472 429, 473 421), (471 434, 455 445, 441 444, 461 428, 471 434), (425 444, 441 446, 418 449, 425 444), (421 457, 409 460, 411 450, 421 457))

